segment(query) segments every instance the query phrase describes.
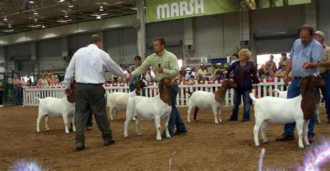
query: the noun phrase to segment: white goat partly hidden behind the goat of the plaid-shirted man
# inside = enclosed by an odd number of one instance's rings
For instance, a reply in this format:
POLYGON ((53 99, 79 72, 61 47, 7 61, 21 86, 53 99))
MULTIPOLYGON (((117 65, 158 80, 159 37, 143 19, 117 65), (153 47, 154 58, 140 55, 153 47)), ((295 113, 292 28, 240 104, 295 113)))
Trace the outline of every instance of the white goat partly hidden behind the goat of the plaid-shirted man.
MULTIPOLYGON (((141 88, 144 88, 148 86, 148 82, 144 79, 141 79, 136 82, 136 88, 132 92, 107 92, 107 102, 109 106, 109 115, 110 119, 113 120, 112 113, 113 111, 116 111, 116 117, 117 120, 119 120, 118 117, 118 111, 119 110, 125 110, 127 107, 128 99, 129 97, 136 97, 141 94, 141 88)), ((134 118, 133 118, 134 119, 134 118)))

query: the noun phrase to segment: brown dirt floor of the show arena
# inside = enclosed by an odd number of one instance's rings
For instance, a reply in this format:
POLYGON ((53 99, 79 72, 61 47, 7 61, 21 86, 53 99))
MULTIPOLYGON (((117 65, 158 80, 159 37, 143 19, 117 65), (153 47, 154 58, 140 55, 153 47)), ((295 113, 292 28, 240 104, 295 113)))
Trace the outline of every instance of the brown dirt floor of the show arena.
MULTIPOLYGON (((187 108, 179 108, 187 121, 187 108)), ((214 124, 212 111, 200 111, 198 122, 186 123, 189 133, 156 141, 155 122, 141 122, 143 136, 135 136, 135 123, 129 138, 123 137, 125 120, 111 122, 115 145, 104 146, 96 124, 86 131, 86 149, 76 152, 74 133, 65 134, 61 117, 50 119, 50 131, 36 133, 38 107, 9 106, 0 108, 0 170, 10 169, 22 158, 36 160, 46 170, 168 170, 173 153, 172 170, 257 170, 261 147, 265 147, 264 168, 293 169, 301 165, 308 149, 299 149, 297 138, 276 142, 283 125, 269 124, 269 142, 255 147, 253 142, 253 108, 251 122, 228 122, 231 107, 223 108, 221 124, 214 124)), ((242 117, 242 108, 239 117, 242 117)), ((322 124, 315 126, 316 143, 330 137, 325 123, 325 109, 320 108, 322 124)), ((124 113, 120 113, 124 117, 124 113)), ((192 115, 191 115, 192 117, 192 115)), ((164 124, 162 124, 162 129, 164 124)), ((261 136, 259 136, 261 143, 261 136)), ((329 170, 330 165, 324 167, 329 170)))

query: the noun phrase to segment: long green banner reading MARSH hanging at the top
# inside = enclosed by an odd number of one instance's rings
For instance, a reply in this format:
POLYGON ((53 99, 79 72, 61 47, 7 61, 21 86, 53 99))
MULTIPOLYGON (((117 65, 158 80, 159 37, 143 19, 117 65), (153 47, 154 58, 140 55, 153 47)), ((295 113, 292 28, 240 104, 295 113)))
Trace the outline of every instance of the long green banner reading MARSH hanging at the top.
POLYGON ((146 0, 146 22, 311 3, 311 0, 146 0))

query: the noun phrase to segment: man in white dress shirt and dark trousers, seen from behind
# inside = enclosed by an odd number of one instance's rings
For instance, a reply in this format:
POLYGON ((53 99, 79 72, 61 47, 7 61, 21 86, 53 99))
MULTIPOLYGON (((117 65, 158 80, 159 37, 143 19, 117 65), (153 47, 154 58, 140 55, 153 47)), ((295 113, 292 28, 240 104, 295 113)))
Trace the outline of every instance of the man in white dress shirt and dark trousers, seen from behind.
POLYGON ((128 78, 129 75, 123 71, 107 54, 102 51, 102 38, 100 35, 92 35, 88 47, 82 47, 74 53, 68 69, 65 72, 65 94, 70 95, 70 83, 72 78, 77 82, 75 90, 76 97, 76 149, 80 151, 85 148, 85 127, 90 111, 102 132, 104 145, 114 143, 110 123, 107 119, 104 70, 128 78))

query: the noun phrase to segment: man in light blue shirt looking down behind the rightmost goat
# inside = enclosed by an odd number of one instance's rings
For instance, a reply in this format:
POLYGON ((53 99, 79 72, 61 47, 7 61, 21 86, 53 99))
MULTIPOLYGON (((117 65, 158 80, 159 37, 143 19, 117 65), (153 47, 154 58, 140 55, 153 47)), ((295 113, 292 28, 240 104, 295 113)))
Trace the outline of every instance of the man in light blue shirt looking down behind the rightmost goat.
MULTIPOLYGON (((301 94, 300 80, 304 76, 311 74, 319 75, 319 63, 322 61, 323 48, 320 42, 313 40, 313 27, 305 24, 301 26, 300 39, 296 40, 290 52, 290 60, 285 68, 284 82, 288 83, 288 73, 292 70, 292 83, 288 87, 288 99, 292 99, 301 94)), ((313 142, 315 113, 308 125, 308 140, 313 142)), ((276 141, 294 140, 295 122, 285 124, 284 133, 276 141)))

